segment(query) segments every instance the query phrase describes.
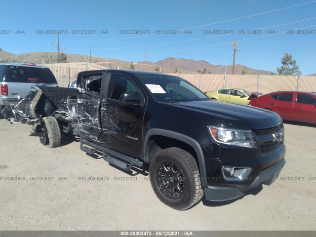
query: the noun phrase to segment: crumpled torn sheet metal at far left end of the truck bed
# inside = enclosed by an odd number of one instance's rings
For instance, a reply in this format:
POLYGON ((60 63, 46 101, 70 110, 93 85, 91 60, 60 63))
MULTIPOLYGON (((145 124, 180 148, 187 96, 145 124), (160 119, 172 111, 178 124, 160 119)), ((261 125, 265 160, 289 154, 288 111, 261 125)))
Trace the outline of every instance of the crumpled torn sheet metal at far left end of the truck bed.
POLYGON ((35 96, 35 92, 31 92, 22 99, 16 106, 10 104, 4 107, 1 111, 2 116, 10 121, 10 123, 29 123, 38 121, 40 118, 34 117, 32 113, 31 101, 35 96))

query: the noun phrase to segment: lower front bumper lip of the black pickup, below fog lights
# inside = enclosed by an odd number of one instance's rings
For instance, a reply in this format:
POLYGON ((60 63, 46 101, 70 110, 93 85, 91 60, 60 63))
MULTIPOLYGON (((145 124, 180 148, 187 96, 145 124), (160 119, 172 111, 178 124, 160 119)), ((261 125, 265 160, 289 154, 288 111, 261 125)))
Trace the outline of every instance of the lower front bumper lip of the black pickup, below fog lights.
POLYGON ((249 190, 258 187, 261 184, 271 185, 278 177, 281 169, 285 165, 285 159, 282 158, 276 164, 261 171, 250 186, 244 188, 208 186, 204 189, 205 199, 209 201, 227 201, 236 199, 245 195, 249 190))

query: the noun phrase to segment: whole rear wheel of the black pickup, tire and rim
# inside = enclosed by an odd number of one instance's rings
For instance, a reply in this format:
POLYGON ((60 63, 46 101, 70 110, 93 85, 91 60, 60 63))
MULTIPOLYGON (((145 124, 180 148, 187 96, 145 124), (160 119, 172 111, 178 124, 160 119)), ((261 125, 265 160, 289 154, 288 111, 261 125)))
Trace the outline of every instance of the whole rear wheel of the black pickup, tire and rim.
POLYGON ((43 124, 40 125, 40 142, 44 146, 50 148, 60 147, 61 133, 59 124, 54 117, 45 117, 42 119, 43 124))

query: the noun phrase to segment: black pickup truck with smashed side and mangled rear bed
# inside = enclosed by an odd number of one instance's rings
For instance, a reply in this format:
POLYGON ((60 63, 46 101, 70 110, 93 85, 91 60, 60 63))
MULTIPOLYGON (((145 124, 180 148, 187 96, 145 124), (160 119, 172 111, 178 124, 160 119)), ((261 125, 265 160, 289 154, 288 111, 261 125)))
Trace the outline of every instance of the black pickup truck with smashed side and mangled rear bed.
POLYGON ((184 79, 121 70, 81 72, 77 89, 35 87, 5 118, 32 124, 49 147, 61 132, 123 170, 150 164, 157 197, 185 210, 270 185, 285 164, 284 128, 271 111, 211 101, 184 79), (57 95, 57 96, 56 96, 57 95), (57 100, 62 99, 62 100, 57 100))

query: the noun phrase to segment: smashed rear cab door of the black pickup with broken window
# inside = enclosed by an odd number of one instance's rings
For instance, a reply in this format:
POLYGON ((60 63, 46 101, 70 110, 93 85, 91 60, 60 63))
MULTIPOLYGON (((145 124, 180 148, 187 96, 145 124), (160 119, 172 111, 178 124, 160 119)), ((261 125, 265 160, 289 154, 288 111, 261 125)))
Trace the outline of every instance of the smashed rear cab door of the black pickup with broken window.
POLYGON ((78 134, 89 141, 98 141, 101 134, 99 117, 102 72, 81 74, 77 88, 78 134))

